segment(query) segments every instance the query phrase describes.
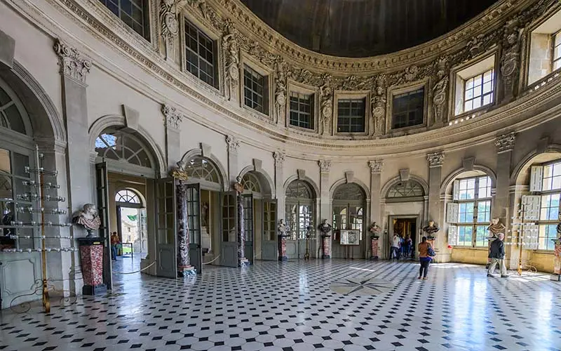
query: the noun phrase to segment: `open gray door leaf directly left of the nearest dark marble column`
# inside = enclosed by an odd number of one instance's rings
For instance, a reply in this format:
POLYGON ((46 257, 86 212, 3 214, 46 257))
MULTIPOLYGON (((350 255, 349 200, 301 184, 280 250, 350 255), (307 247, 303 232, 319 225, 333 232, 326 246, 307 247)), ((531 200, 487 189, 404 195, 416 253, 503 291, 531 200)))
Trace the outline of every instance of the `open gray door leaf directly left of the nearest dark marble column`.
POLYGON ((156 275, 177 278, 177 211, 173 178, 156 180, 156 275))

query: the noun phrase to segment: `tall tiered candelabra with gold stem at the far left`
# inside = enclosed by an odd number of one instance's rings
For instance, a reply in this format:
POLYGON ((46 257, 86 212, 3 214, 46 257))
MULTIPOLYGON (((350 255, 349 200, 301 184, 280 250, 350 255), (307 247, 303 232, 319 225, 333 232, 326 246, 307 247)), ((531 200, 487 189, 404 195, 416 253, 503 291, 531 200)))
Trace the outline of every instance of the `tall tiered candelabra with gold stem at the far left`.
MULTIPOLYGON (((73 298, 75 301, 75 294, 69 294, 65 298, 67 291, 60 291, 55 289, 52 284, 53 279, 48 278, 47 271, 47 253, 60 253, 60 252, 73 252, 77 251, 74 247, 61 247, 60 240, 72 239, 69 235, 50 234, 53 227, 70 227, 71 223, 59 223, 58 220, 48 220, 47 216, 60 216, 67 213, 66 210, 58 208, 58 203, 65 201, 64 197, 53 196, 48 194, 52 190, 58 190, 60 185, 55 183, 46 182, 46 178, 55 178, 58 176, 58 171, 46 171, 43 168, 43 154, 39 153, 39 148, 35 147, 35 164, 36 168, 25 166, 23 172, 29 178, 35 180, 23 180, 21 182, 23 187, 27 187, 27 192, 17 194, 15 200, 10 199, 8 204, 13 206, 15 212, 14 220, 11 220, 7 228, 8 237, 13 240, 13 247, 7 247, 1 250, 3 253, 40 253, 41 256, 41 279, 37 279, 31 288, 31 293, 25 293, 16 296, 11 301, 11 308, 17 312, 27 312, 31 305, 27 302, 15 304, 15 302, 25 296, 41 295, 43 300, 43 309, 45 312, 50 312, 50 296, 49 291, 62 292, 62 300, 70 302, 73 298), (54 204, 54 205, 53 205, 54 204), (25 220, 24 220, 25 219, 25 220), (31 232, 32 234, 30 234, 31 232), (23 234, 22 234, 23 233, 23 234), (37 235, 39 234, 39 235, 37 235), (39 239, 39 244, 35 239, 39 239), (58 246, 47 246, 48 239, 58 239, 58 246), (25 243, 25 244, 24 244, 25 243), (28 246, 27 248, 24 246, 28 246)), ((18 187, 16 187, 18 189, 18 187)))

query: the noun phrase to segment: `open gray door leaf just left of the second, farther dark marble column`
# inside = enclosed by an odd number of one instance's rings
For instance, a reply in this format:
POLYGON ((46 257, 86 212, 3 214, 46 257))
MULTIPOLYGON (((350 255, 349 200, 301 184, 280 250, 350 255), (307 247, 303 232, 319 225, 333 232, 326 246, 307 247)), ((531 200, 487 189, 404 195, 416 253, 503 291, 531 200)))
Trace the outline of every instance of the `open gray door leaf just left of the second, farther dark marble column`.
POLYGON ((238 206, 236 192, 222 194, 220 265, 238 267, 238 206))

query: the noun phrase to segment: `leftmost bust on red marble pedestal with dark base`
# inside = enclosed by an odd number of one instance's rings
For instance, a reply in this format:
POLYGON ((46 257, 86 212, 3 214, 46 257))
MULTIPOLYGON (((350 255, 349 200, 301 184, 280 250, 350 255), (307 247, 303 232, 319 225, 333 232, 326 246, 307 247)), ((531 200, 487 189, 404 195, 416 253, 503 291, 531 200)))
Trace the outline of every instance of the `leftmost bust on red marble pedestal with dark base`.
MULTIPOLYGON (((83 205, 83 209, 72 217, 72 223, 81 225, 88 231, 86 237, 76 239, 80 246, 80 263, 83 276, 82 293, 83 295, 107 293, 107 286, 103 284, 103 248, 106 238, 93 236, 93 231, 98 230, 101 225, 95 205, 83 205)), ((107 253, 107 258, 109 259, 109 257, 109 253, 107 253)))

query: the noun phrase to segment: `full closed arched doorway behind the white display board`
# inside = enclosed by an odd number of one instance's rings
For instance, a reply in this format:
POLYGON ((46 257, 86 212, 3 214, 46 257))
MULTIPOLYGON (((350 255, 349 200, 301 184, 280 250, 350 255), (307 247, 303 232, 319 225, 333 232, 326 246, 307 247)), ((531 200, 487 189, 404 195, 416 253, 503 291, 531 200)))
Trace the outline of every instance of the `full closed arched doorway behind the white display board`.
POLYGON ((366 195, 356 183, 339 185, 333 192, 333 258, 362 258, 365 242, 366 195))

